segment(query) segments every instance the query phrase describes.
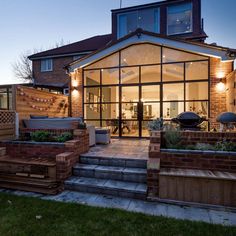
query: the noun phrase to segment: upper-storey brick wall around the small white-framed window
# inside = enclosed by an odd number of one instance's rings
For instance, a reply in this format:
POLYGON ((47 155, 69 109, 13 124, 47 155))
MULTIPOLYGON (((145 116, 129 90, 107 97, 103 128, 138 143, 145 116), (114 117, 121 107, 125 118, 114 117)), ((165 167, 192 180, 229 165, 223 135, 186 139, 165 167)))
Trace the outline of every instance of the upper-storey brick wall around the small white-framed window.
POLYGON ((72 61, 73 57, 53 58, 53 71, 41 72, 41 60, 34 60, 33 77, 35 83, 63 87, 64 84, 69 83, 69 76, 66 74, 64 66, 72 61))

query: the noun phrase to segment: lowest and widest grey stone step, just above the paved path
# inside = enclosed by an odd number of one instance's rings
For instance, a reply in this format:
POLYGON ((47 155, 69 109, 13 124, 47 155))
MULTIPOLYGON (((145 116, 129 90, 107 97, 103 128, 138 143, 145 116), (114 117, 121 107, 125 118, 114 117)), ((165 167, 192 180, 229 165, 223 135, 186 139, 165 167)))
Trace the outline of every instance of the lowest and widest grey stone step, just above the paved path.
POLYGON ((65 189, 79 192, 107 194, 119 197, 146 199, 147 186, 142 183, 72 176, 65 181, 65 189))

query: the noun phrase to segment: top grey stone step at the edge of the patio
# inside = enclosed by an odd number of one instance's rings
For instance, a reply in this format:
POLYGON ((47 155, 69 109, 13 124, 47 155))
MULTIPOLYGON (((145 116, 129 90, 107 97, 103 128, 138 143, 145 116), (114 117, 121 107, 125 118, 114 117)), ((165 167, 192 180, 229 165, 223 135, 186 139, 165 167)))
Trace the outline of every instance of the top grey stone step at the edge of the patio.
POLYGON ((80 155, 81 164, 102 165, 102 166, 119 166, 131 168, 147 168, 147 160, 129 159, 129 158, 113 158, 113 157, 98 157, 91 154, 80 155))

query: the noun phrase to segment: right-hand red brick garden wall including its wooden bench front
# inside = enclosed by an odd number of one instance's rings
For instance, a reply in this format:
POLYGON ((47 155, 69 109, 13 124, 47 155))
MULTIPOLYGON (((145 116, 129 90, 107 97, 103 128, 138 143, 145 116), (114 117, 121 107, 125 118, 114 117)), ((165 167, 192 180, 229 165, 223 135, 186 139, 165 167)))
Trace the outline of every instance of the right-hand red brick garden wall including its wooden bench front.
MULTIPOLYGON (((154 131, 150 138, 148 198, 236 206, 235 152, 165 149, 163 136, 154 131)), ((214 144, 224 138, 236 142, 236 133, 183 131, 181 136, 183 145, 214 144)))

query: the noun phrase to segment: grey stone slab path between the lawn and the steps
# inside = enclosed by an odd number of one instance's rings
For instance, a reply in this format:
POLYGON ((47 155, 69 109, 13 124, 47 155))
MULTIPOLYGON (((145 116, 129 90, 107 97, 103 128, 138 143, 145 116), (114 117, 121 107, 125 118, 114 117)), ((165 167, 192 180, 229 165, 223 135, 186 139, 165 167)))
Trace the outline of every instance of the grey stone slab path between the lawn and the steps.
POLYGON ((43 200, 71 202, 90 206, 118 208, 154 216, 172 217, 180 220, 202 221, 211 224, 236 226, 236 211, 213 210, 196 206, 179 206, 160 202, 147 202, 129 198, 112 197, 101 194, 64 191, 55 196, 38 193, 0 189, 0 192, 18 196, 36 197, 43 200))

